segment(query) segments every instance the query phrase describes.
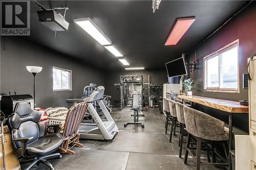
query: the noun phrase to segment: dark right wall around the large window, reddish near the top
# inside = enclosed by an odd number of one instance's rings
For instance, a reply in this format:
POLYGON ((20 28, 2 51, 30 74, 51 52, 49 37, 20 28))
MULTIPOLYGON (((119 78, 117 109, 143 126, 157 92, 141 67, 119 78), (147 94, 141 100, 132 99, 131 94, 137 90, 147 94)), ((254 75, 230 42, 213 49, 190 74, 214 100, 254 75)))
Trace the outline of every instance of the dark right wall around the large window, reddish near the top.
MULTIPOLYGON (((210 22, 210 21, 209 21, 210 22)), ((208 96, 232 101, 248 100, 248 90, 242 88, 242 75, 247 73, 247 58, 256 53, 256 3, 253 2, 238 16, 233 18, 214 36, 203 42, 196 50, 188 54, 190 62, 199 61, 199 69, 190 72, 189 77, 196 82, 195 95, 208 96), (225 45, 239 39, 239 86, 240 93, 207 92, 204 91, 203 58, 225 45)), ((228 114, 201 105, 199 110, 207 112, 228 122, 228 114)), ((248 132, 248 114, 234 114, 234 126, 248 132)))

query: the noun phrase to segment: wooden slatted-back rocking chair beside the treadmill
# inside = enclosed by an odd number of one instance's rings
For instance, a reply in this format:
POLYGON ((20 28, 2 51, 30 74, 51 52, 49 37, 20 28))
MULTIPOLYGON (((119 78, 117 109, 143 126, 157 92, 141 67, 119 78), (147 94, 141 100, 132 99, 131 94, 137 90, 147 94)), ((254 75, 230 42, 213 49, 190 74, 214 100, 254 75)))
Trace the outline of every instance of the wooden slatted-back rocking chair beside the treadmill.
POLYGON ((78 127, 80 126, 84 114, 86 114, 88 104, 86 102, 78 103, 73 105, 67 114, 66 123, 63 130, 64 141, 60 145, 58 152, 65 154, 74 154, 71 149, 74 146, 82 147, 79 143, 80 134, 78 133, 78 127))

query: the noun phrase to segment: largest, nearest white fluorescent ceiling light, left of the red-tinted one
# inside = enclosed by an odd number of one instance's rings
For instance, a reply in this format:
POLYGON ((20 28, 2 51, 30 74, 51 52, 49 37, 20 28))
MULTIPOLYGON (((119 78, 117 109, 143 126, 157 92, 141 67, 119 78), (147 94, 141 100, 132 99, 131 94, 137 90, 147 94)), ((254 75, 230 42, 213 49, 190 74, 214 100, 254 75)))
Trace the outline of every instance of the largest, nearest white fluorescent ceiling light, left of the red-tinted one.
POLYGON ((78 24, 84 31, 90 34, 101 45, 110 45, 111 41, 104 33, 93 23, 90 18, 74 19, 74 22, 78 24))

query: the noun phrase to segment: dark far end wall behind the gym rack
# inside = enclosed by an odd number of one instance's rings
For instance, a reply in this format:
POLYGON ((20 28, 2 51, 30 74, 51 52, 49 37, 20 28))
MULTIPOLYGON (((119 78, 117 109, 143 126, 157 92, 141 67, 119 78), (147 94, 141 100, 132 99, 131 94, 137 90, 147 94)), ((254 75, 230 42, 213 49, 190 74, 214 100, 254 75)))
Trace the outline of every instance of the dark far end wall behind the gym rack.
MULTIPOLYGON (((163 64, 163 67, 165 65, 163 64)), ((152 84, 163 84, 168 82, 166 70, 123 70, 123 71, 111 71, 105 74, 105 93, 112 96, 112 102, 114 100, 120 101, 120 92, 115 83, 119 83, 120 75, 142 75, 143 82, 148 82, 148 75, 150 75, 150 83, 152 84)), ((147 88, 147 86, 144 86, 147 88)), ((147 89, 144 90, 147 94, 147 89)), ((161 94, 162 95, 162 94, 161 94)))

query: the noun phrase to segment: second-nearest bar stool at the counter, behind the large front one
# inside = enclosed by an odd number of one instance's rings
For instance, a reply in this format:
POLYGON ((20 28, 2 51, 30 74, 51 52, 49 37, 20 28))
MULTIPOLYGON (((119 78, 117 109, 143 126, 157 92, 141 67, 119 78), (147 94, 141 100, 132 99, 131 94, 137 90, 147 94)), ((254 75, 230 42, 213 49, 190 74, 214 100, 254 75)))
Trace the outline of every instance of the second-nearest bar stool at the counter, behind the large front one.
POLYGON ((180 139, 179 139, 179 147, 180 147, 180 153, 179 157, 181 158, 182 154, 182 145, 183 145, 183 137, 184 137, 184 132, 185 132, 185 118, 184 118, 184 112, 183 112, 183 107, 185 105, 176 102, 176 112, 177 112, 177 119, 179 123, 181 124, 181 131, 180 131, 180 139))

